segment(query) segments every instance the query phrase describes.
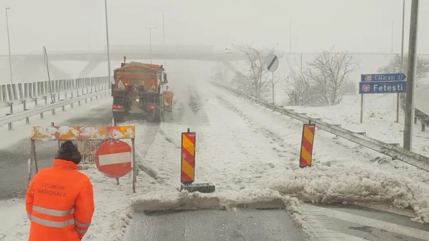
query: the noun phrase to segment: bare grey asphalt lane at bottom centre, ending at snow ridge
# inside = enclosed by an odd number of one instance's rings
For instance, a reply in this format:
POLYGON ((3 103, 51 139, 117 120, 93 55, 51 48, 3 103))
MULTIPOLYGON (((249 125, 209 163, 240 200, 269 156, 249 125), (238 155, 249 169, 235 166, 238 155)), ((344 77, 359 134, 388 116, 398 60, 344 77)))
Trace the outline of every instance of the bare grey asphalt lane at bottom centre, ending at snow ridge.
POLYGON ((136 213, 124 240, 295 241, 307 237, 284 210, 241 209, 136 213))

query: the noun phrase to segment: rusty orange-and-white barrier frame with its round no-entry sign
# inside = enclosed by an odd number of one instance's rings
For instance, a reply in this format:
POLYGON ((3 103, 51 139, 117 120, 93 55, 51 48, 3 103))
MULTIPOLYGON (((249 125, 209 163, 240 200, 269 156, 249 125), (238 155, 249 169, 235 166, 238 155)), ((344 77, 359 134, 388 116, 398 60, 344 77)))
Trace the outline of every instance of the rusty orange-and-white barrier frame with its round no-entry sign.
POLYGON ((94 163, 108 177, 122 177, 133 171, 133 192, 136 183, 135 126, 33 126, 31 156, 37 169, 36 140, 102 141, 94 155, 94 163), (131 139, 132 147, 121 139, 131 139))

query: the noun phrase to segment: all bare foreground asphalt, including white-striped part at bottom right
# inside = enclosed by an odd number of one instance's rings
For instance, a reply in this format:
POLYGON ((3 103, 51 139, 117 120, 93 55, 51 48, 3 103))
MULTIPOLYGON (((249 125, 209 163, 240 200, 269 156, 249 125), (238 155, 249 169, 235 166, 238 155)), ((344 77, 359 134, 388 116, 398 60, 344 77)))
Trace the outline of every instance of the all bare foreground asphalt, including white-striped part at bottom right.
POLYGON ((135 213, 125 241, 407 240, 429 239, 429 226, 405 215, 354 205, 304 204, 311 238, 282 209, 135 213), (168 228, 166 228, 168 227, 168 228))

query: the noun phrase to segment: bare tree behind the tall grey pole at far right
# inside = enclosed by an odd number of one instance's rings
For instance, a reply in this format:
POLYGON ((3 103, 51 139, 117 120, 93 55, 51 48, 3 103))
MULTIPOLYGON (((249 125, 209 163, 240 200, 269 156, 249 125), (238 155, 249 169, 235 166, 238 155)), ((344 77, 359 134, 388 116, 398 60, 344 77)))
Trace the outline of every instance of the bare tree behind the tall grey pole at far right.
MULTIPOLYGON (((408 68, 408 55, 404 54, 404 72, 407 73, 408 68)), ((396 54, 389 64, 380 67, 377 70, 379 73, 401 73, 401 56, 396 54)), ((427 76, 429 72, 429 60, 417 57, 417 80, 427 76)))

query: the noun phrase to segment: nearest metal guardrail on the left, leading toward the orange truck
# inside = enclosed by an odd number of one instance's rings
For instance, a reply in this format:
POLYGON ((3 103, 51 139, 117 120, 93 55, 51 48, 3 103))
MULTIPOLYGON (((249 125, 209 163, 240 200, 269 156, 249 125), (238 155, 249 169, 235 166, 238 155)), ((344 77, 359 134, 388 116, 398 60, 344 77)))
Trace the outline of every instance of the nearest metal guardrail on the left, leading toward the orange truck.
POLYGON ((34 109, 31 109, 31 110, 21 111, 21 112, 15 113, 15 114, 3 116, 3 117, 0 117, 0 126, 3 126, 4 124, 8 124, 9 130, 12 130, 12 122, 21 121, 21 120, 25 119, 25 122, 27 124, 29 124, 29 117, 31 117, 31 116, 35 116, 37 114, 40 114, 40 119, 43 119, 43 113, 44 112, 52 111, 52 114, 55 115, 56 114, 55 110, 57 108, 62 107, 63 111, 64 111, 65 110, 64 108, 67 105, 70 105, 73 108, 73 104, 76 102, 78 102, 80 105, 81 101, 87 102, 87 99, 90 99, 92 101, 93 97, 98 99, 98 96, 108 95, 108 94, 110 94, 110 90, 97 91, 97 92, 89 93, 89 94, 86 94, 83 96, 74 97, 74 98, 71 98, 68 100, 63 100, 60 102, 52 103, 52 104, 49 104, 46 106, 36 107, 34 109))

